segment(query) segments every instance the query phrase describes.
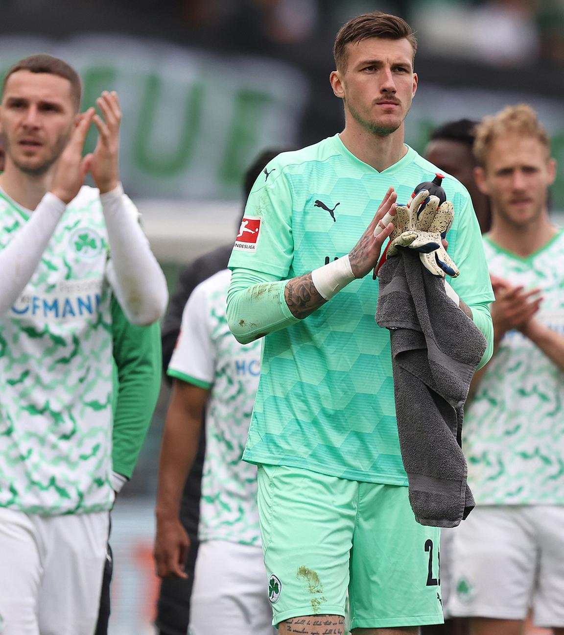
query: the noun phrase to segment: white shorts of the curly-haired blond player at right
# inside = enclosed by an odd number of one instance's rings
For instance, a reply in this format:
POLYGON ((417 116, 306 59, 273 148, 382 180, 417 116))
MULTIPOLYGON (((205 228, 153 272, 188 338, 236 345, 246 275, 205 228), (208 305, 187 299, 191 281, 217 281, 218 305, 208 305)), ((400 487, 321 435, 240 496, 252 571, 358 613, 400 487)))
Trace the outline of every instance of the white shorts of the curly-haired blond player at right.
POLYGON ((564 507, 476 507, 452 535, 450 615, 564 627, 564 507))

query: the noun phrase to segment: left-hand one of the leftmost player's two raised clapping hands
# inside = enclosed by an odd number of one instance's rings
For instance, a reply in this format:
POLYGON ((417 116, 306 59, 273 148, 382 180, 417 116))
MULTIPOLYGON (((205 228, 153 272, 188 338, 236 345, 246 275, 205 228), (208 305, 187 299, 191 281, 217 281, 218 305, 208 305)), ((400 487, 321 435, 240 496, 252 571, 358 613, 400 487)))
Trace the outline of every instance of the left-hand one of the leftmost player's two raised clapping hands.
POLYGON ((49 191, 67 205, 79 193, 84 185, 84 177, 90 169, 92 155, 87 154, 82 157, 82 150, 93 116, 94 109, 89 108, 77 117, 75 128, 70 133, 69 143, 56 164, 49 191))

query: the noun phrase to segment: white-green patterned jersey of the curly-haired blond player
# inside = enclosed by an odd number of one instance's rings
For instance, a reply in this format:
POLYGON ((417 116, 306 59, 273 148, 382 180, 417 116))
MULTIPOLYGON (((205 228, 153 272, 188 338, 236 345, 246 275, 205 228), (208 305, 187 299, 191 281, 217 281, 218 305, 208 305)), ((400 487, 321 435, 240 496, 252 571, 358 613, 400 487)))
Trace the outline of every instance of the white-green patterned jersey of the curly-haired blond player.
MULTIPOLYGON (((528 258, 484 239, 490 272, 541 288, 535 319, 564 335, 564 232, 528 258)), ((483 505, 564 504, 564 373, 519 331, 504 335, 464 418, 468 482, 483 505)))

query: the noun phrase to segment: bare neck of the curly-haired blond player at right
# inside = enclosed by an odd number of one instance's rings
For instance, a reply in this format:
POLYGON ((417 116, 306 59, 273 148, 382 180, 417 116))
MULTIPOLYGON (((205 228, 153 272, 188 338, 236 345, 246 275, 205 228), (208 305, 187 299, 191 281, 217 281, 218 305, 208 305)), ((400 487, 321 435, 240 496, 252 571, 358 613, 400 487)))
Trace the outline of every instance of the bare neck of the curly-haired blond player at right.
POLYGON ((537 222, 528 225, 504 222, 494 213, 492 229, 489 232, 495 244, 521 258, 527 258, 542 249, 555 235, 556 228, 546 213, 537 222))

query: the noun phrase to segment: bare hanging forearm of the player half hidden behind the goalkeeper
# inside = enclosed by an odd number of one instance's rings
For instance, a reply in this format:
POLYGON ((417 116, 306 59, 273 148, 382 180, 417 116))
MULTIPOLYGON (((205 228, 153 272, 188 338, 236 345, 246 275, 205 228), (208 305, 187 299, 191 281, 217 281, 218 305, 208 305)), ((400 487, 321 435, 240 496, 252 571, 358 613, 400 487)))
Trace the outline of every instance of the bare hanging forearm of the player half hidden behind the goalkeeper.
POLYGON ((198 450, 200 422, 201 417, 187 415, 185 410, 171 404, 159 459, 157 519, 178 518, 184 483, 198 450))

